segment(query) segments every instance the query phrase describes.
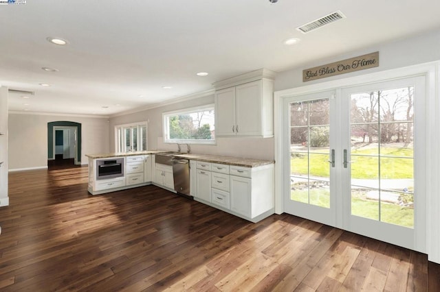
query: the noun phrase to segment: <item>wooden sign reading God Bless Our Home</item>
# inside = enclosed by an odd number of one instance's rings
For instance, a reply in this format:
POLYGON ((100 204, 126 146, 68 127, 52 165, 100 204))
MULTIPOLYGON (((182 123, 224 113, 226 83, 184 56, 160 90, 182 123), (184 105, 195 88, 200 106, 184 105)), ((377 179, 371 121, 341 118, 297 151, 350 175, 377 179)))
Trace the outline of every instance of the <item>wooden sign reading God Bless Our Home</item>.
POLYGON ((379 66, 379 52, 303 70, 303 82, 379 66))

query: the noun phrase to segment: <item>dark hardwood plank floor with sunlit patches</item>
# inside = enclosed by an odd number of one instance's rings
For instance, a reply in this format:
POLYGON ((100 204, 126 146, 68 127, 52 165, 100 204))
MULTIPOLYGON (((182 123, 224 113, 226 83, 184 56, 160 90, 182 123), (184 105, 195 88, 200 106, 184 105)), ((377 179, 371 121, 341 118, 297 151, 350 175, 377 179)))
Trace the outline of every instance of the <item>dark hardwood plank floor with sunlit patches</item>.
POLYGON ((1 291, 440 291, 427 256, 291 215, 250 223, 87 167, 10 173, 1 291))

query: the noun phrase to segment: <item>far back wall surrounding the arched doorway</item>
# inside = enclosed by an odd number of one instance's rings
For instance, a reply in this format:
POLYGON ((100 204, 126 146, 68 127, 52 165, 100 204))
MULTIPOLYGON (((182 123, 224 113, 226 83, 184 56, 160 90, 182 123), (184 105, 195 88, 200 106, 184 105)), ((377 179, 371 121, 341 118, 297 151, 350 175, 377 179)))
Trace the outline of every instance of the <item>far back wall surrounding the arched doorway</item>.
POLYGON ((10 113, 9 170, 47 167, 47 123, 52 121, 81 123, 81 164, 88 163, 85 154, 110 151, 107 119, 10 113))

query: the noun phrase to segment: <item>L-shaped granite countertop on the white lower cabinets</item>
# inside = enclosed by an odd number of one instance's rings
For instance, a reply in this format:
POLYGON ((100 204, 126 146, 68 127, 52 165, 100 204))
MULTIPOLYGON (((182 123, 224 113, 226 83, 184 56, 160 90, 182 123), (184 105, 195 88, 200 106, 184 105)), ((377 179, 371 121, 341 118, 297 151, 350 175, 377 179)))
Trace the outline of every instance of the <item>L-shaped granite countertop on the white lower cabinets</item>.
MULTIPOLYGON (((88 158, 98 159, 98 158, 110 158, 110 157, 124 157, 124 156, 136 156, 136 155, 146 155, 146 154, 162 154, 171 153, 173 151, 167 150, 152 150, 152 151, 134 151, 134 152, 120 152, 120 153, 106 153, 106 154, 86 154, 88 158)), ((223 165, 234 165, 237 167, 261 167, 263 165, 272 165, 273 160, 261 160, 252 158, 239 158, 232 156, 221 156, 221 155, 210 155, 210 154, 175 154, 176 157, 186 158, 190 160, 220 163, 223 165)))

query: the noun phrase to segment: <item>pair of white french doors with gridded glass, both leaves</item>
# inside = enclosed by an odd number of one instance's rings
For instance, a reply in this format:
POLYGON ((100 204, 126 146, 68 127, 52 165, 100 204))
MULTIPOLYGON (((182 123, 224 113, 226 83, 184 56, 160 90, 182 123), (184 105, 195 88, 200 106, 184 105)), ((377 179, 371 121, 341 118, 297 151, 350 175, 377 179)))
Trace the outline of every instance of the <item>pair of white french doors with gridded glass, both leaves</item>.
POLYGON ((285 212, 426 251, 424 88, 411 77, 284 99, 285 212))

